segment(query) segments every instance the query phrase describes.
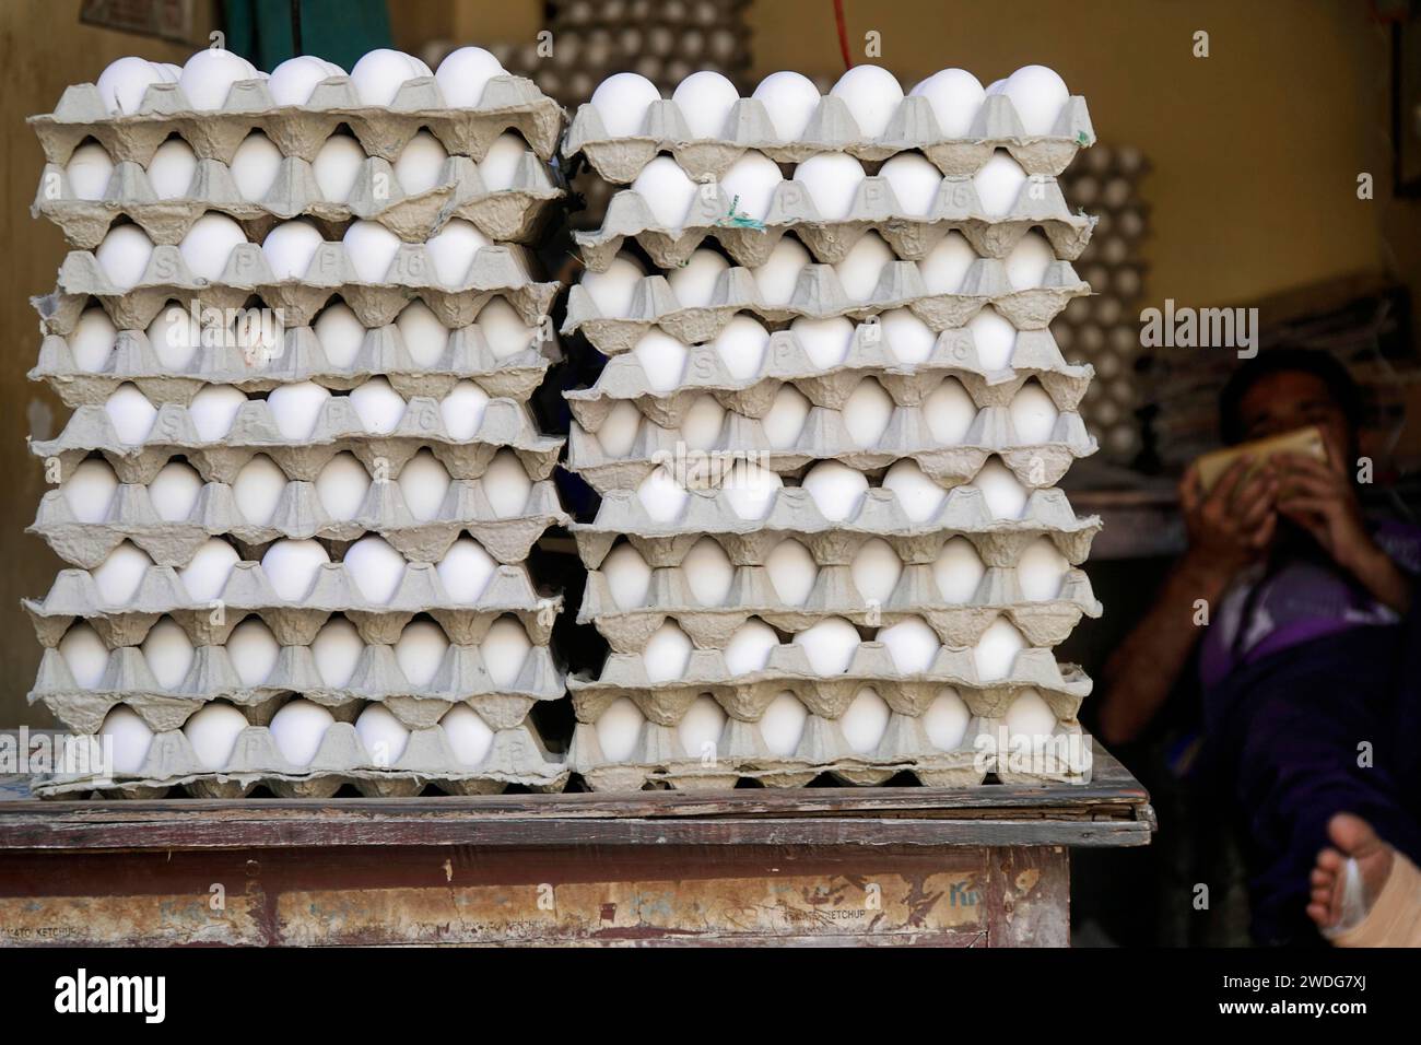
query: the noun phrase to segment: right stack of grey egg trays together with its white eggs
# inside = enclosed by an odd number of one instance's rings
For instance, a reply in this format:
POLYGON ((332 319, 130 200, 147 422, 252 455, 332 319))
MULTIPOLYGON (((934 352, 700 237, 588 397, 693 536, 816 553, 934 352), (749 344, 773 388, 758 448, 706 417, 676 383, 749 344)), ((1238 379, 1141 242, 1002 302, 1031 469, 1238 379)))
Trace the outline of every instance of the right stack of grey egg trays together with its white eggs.
POLYGON ((1070 259, 1091 219, 1056 183, 1094 139, 1084 101, 1039 138, 992 95, 958 141, 917 97, 872 141, 836 97, 797 142, 755 100, 728 138, 684 128, 675 102, 652 102, 642 134, 610 139, 584 105, 564 138, 621 186, 666 155, 698 183, 681 223, 622 188, 577 236, 588 272, 563 333, 610 358, 567 394, 568 465, 601 495, 571 529, 591 572, 580 620, 611 653, 597 677, 568 678, 573 771, 603 791, 1088 781, 1088 755, 999 758, 1023 736, 1088 749, 1090 680, 1052 647, 1100 613, 1079 569, 1098 519, 1056 488, 1096 449, 1077 412, 1091 368, 1047 330, 1090 293, 1070 259), (784 181, 747 216, 732 181, 753 152, 784 181), (877 176, 905 152, 942 176, 917 212, 877 176), (840 220, 793 179, 823 154, 868 175, 840 220), (1025 181, 988 213, 975 175, 1006 156, 1025 181), (1022 290, 1007 269, 1027 235, 1052 254, 1022 290), (976 259, 961 286, 929 289, 921 263, 953 236, 976 259), (854 252, 872 239, 888 260, 865 283, 854 252), (976 323, 993 310, 996 327, 976 323), (826 350, 833 331, 840 350, 826 350))

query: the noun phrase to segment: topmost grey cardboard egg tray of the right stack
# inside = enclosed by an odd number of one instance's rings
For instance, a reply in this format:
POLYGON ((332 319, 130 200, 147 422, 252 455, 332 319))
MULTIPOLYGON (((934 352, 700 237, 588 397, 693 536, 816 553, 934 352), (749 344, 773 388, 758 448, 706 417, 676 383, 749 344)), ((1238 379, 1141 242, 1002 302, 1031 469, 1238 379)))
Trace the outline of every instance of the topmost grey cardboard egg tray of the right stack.
POLYGON ((779 164, 800 164, 820 152, 847 152, 863 161, 882 161, 898 152, 918 151, 944 175, 975 173, 996 149, 1006 149, 1030 175, 1054 176, 1076 152, 1096 142, 1086 100, 1070 98, 1049 135, 1022 131, 1016 107, 1005 95, 988 97, 966 138, 948 138, 938 128, 926 98, 907 97, 878 138, 860 129, 843 98, 826 95, 796 142, 783 142, 757 98, 742 98, 730 109, 719 138, 692 138, 681 107, 652 102, 639 134, 611 138, 601 114, 591 104, 578 105, 563 141, 563 155, 587 156, 603 178, 631 183, 658 154, 669 152, 693 181, 722 176, 736 159, 753 149, 779 164))

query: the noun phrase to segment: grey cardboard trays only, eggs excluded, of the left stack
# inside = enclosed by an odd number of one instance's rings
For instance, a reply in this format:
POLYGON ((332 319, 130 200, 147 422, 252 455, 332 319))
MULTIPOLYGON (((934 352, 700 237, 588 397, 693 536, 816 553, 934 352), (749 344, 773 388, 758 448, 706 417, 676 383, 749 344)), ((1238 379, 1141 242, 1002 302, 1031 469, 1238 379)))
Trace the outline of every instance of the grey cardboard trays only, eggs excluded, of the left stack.
POLYGON ((415 795, 426 785, 455 793, 489 793, 512 783, 560 791, 567 779, 561 756, 550 754, 527 715, 539 701, 566 694, 563 674, 549 648, 561 597, 546 597, 533 584, 526 557, 543 530, 567 518, 550 472, 561 439, 541 435, 527 401, 558 357, 551 338, 534 341, 513 355, 496 354, 479 323, 479 310, 503 297, 529 326, 541 326, 556 283, 536 282, 522 247, 495 245, 479 250, 466 277, 441 283, 422 240, 450 218, 468 218, 486 235, 527 239, 549 203, 561 195, 547 173, 561 129, 561 109, 526 80, 496 77, 477 108, 443 105, 433 80, 406 82, 388 108, 360 105, 345 77, 315 88, 306 107, 277 108, 261 81, 236 84, 226 105, 193 112, 172 84, 148 88, 136 115, 109 117, 97 88, 71 87, 55 112, 31 125, 44 145, 47 166, 37 215, 54 220, 75 247, 67 256, 54 293, 36 299, 43 344, 33 380, 45 381, 74 408, 54 439, 34 442, 33 452, 68 476, 84 459, 101 456, 121 483, 102 522, 75 516, 63 491, 40 505, 31 532, 41 535, 71 564, 43 600, 27 600, 44 654, 30 692, 68 729, 97 734, 119 704, 132 708, 155 736, 136 773, 101 779, 91 775, 51 776, 36 786, 43 796, 102 792, 151 798, 179 788, 190 795, 233 798, 267 786, 283 796, 330 796, 351 783, 365 795, 415 795), (368 154, 351 199, 321 200, 310 161, 338 127, 348 127, 368 154), (443 181, 435 189, 405 196, 391 161, 421 129, 428 128, 450 152, 443 181), (530 145, 512 191, 486 192, 475 162, 500 132, 513 128, 530 145), (226 164, 237 144, 261 129, 286 155, 271 193, 247 202, 236 193, 226 164), (199 156, 198 175, 186 198, 158 200, 146 183, 144 164, 171 134, 182 135, 199 156), (64 165, 85 139, 98 141, 115 159, 104 200, 78 200, 64 165), (388 181, 387 181, 388 179, 388 181), (388 192, 377 192, 384 185, 388 192), (388 195, 388 198, 385 198, 388 195), (193 276, 173 243, 206 210, 237 219, 249 237, 264 235, 281 219, 307 215, 328 240, 355 218, 379 220, 406 242, 379 283, 361 280, 340 242, 327 242, 301 279, 276 279, 259 245, 236 246, 216 280, 193 276), (126 218, 141 225, 156 246, 142 277, 118 287, 98 264, 92 247, 109 223, 126 218), (334 230, 334 235, 333 232, 334 230), (240 344, 202 347, 182 368, 163 365, 145 330, 163 306, 176 299, 202 309, 242 309, 254 299, 280 309, 286 324, 281 351, 253 355, 240 344), (314 316, 331 300, 345 301, 367 327, 350 364, 327 358, 314 316), (452 328, 443 355, 415 363, 396 314, 421 299, 452 328), (80 365, 71 336, 85 307, 98 304, 119 334, 98 368, 80 365), (348 398, 333 395, 308 438, 281 434, 269 404, 253 400, 237 409, 220 439, 205 439, 188 404, 205 385, 234 385, 261 394, 286 384, 314 381, 334 392, 385 377, 406 401, 398 425, 381 435, 365 429, 348 398), (469 435, 450 434, 439 400, 460 380, 490 397, 482 421, 469 435), (131 382, 156 407, 153 425, 139 444, 124 442, 108 412, 107 398, 131 382), (432 519, 416 519, 396 482, 421 448, 429 448, 450 476, 448 495, 432 519), (533 481, 523 510, 512 518, 495 512, 483 473, 500 448, 509 448, 533 481), (337 454, 351 452, 375 476, 350 520, 333 519, 314 489, 320 469, 337 454), (276 512, 253 523, 237 509, 232 482, 244 463, 266 455, 286 473, 276 512), (171 459, 186 459, 202 488, 188 519, 161 519, 146 483, 171 459), (382 478, 384 476, 384 478, 382 478), (388 481, 387 481, 388 479, 388 481), (335 559, 367 533, 381 535, 406 559, 404 577, 385 603, 367 599, 341 562, 321 566, 313 587, 298 599, 277 594, 259 562, 281 537, 315 537, 335 559), (476 601, 453 599, 432 566, 462 535, 470 535, 497 562, 476 601), (237 563, 216 600, 195 600, 179 570, 212 536, 236 545, 237 563), (121 543, 131 542, 152 559, 132 597, 107 604, 90 570, 121 543), (333 614, 344 614, 365 650, 342 687, 325 685, 310 643, 333 614), (271 674, 259 685, 244 684, 225 643, 239 623, 259 617, 280 644, 271 674), (392 653, 402 628, 428 616, 445 631, 448 647, 428 684, 406 680, 392 653), (517 618, 533 648, 512 684, 490 677, 479 643, 503 616, 517 618), (171 618, 195 647, 190 670, 176 687, 161 685, 138 645, 163 618, 171 618), (109 650, 97 685, 80 685, 58 651, 77 621, 87 621, 109 650), (335 721, 308 765, 291 765, 267 728, 293 697, 327 707, 335 721), (234 705, 250 722, 220 771, 205 766, 182 725, 212 701, 234 705), (369 702, 382 702, 412 732, 394 763, 377 761, 351 722, 369 702), (477 765, 455 755, 439 719, 465 704, 493 731, 492 746, 477 765))

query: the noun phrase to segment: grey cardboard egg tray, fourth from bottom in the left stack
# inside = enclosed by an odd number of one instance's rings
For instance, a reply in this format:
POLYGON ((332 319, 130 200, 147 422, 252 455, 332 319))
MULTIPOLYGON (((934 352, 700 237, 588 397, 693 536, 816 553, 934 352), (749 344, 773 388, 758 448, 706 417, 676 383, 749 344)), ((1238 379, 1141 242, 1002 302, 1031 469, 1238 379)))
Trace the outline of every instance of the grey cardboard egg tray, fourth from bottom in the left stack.
POLYGON ((266 547, 281 537, 318 537, 344 546, 367 533, 377 533, 405 559, 438 563, 468 533, 497 562, 517 564, 527 559, 533 543, 549 526, 568 522, 551 479, 533 483, 527 503, 517 516, 500 518, 489 503, 482 479, 456 479, 449 485, 433 519, 418 520, 409 513, 399 483, 371 482, 354 519, 331 519, 321 506, 314 483, 290 482, 276 512, 266 523, 247 522, 237 509, 232 486, 212 482, 198 495, 188 519, 161 519, 148 488, 125 483, 115 492, 102 522, 81 522, 74 516, 64 491, 50 491, 27 533, 38 533, 64 562, 91 570, 121 543, 131 542, 158 566, 183 567, 198 549, 219 533, 232 535, 243 559, 260 560, 266 547))

